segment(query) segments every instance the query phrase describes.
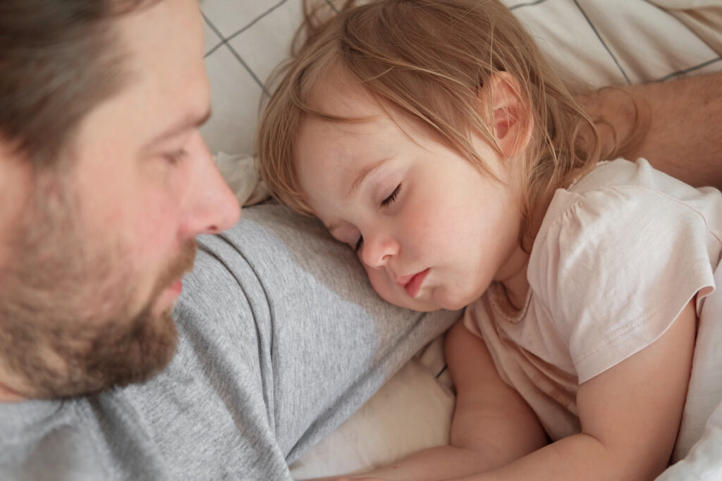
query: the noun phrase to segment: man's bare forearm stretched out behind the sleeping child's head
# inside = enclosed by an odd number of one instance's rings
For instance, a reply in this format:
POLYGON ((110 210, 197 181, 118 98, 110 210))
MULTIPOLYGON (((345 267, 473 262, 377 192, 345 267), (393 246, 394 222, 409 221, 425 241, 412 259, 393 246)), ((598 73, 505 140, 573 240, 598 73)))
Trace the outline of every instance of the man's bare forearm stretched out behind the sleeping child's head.
MULTIPOLYGON (((579 97, 592 118, 605 118, 620 136, 630 132, 635 108, 633 94, 648 107, 651 123, 638 144, 623 152, 640 156, 674 177, 697 187, 722 187, 722 72, 668 82, 640 84, 623 89, 601 89, 579 97)), ((603 141, 612 130, 603 124, 603 141)))

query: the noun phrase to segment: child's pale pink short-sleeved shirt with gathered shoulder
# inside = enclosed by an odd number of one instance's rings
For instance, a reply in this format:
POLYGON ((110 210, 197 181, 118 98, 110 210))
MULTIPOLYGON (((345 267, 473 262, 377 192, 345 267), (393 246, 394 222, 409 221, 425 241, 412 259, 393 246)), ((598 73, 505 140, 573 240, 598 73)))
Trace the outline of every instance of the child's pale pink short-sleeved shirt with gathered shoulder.
MULTIPOLYGON (((519 311, 493 283, 464 324, 552 440, 580 431, 579 384, 653 343, 714 288, 722 195, 644 159, 603 162, 554 193, 529 258, 519 311)), ((674 353, 670 353, 674 355, 674 353)))

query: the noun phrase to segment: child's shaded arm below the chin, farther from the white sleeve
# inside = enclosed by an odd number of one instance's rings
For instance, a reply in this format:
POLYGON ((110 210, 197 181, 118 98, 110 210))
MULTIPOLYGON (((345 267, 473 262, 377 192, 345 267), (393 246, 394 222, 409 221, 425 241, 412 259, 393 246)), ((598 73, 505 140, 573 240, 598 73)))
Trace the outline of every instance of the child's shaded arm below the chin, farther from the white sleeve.
POLYGON ((471 475, 509 464, 549 442, 534 411, 500 378, 486 344, 463 320, 447 332, 444 350, 456 387, 449 446, 418 451, 363 477, 432 481, 471 475))

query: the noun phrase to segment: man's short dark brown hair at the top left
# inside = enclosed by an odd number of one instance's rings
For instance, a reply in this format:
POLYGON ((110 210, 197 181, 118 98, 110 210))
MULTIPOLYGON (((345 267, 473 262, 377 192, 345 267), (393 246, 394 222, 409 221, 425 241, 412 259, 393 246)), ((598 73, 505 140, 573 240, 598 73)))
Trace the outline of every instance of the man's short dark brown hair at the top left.
POLYGON ((111 22, 146 0, 2 0, 0 140, 55 164, 92 107, 123 84, 111 22))

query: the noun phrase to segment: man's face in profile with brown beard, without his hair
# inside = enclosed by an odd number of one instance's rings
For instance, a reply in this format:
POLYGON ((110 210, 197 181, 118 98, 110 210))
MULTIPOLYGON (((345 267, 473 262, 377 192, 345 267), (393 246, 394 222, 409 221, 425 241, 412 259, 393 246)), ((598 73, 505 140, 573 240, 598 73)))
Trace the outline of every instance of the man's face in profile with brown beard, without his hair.
POLYGON ((239 216, 197 130, 209 115, 197 1, 163 0, 116 27, 129 81, 84 118, 68 162, 0 165, 14 165, 4 198, 18 206, 0 210, 0 384, 22 397, 165 367, 194 238, 239 216))

